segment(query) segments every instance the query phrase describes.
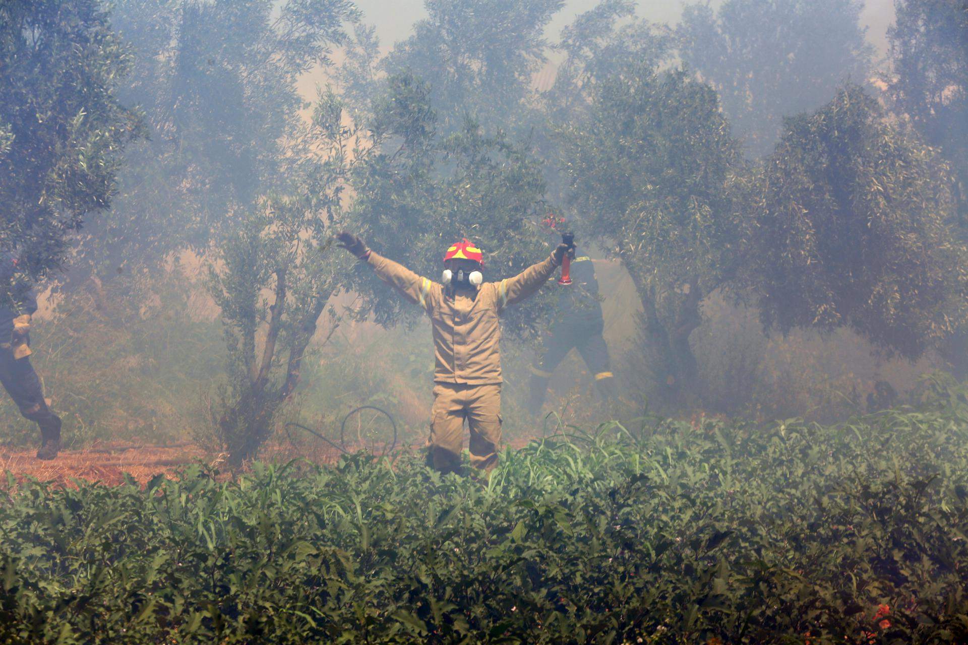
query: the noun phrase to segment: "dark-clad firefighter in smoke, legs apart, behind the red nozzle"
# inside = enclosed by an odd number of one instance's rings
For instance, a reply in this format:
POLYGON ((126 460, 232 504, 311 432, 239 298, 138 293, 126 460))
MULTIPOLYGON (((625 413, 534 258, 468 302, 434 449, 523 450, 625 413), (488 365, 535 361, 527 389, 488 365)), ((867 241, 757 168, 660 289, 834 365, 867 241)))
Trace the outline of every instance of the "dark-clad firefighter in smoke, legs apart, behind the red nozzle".
POLYGON ((529 412, 537 416, 548 390, 548 379, 572 348, 578 349, 594 378, 598 393, 606 401, 615 398, 615 376, 609 366, 605 327, 598 300, 598 280, 591 259, 568 251, 571 259, 571 284, 559 286, 559 315, 544 338, 544 346, 531 366, 529 412))

